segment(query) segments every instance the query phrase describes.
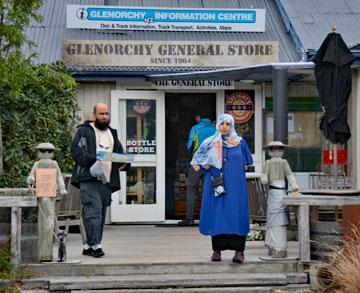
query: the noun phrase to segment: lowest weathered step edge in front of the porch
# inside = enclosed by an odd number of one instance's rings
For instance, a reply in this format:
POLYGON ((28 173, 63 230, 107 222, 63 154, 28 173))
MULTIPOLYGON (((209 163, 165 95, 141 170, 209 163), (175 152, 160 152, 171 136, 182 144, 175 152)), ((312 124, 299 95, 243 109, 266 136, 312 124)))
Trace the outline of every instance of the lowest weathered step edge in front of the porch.
POLYGON ((84 289, 130 289, 166 287, 218 287, 218 286, 269 286, 287 284, 307 284, 305 273, 290 274, 179 274, 179 275, 131 275, 58 277, 49 279, 29 279, 23 281, 26 289, 50 290, 84 289))

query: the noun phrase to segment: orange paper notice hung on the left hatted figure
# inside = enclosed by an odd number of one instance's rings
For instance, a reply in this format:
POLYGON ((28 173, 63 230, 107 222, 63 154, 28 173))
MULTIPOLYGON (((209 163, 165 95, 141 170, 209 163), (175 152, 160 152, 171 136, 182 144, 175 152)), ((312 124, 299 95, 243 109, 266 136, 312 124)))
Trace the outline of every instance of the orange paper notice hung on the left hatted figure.
POLYGON ((56 169, 36 169, 36 196, 55 197, 57 188, 56 169))

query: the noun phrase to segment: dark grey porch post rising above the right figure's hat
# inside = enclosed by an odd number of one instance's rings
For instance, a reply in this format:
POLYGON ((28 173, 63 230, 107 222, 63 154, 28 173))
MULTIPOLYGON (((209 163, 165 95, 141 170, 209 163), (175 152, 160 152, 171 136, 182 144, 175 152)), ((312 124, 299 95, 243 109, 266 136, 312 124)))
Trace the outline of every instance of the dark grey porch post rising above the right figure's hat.
POLYGON ((288 88, 287 69, 273 71, 274 140, 288 143, 288 88))

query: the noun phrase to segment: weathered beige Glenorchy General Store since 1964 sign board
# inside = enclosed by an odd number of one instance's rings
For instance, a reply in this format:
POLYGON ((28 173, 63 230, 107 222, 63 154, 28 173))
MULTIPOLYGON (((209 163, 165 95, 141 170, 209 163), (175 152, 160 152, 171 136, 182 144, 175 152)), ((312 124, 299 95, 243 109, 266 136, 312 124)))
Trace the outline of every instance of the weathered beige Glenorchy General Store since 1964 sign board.
POLYGON ((278 43, 66 40, 62 60, 72 66, 234 67, 278 61, 278 43))

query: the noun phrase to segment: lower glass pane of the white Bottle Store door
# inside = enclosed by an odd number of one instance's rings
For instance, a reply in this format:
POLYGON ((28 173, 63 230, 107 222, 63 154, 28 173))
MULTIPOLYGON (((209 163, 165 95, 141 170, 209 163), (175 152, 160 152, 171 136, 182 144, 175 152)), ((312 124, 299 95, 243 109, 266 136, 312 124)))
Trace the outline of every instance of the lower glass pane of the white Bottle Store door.
POLYGON ((119 204, 156 203, 156 167, 132 167, 127 172, 126 198, 119 204))

